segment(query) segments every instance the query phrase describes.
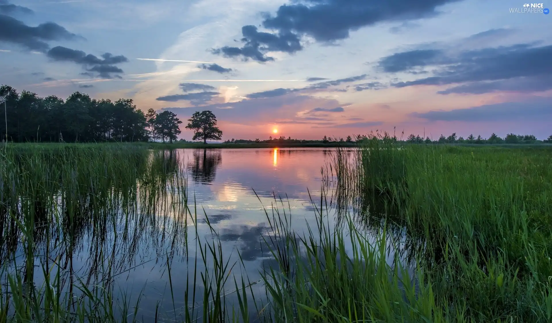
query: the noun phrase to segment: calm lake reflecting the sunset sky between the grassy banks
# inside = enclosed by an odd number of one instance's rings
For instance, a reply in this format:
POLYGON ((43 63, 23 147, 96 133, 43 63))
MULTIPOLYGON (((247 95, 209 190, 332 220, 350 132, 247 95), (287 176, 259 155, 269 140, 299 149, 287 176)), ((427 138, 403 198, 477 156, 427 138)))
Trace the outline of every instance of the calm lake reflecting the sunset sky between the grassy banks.
MULTIPOLYGON (((96 284, 109 280, 115 286, 115 297, 130 304, 131 312, 139 301, 137 315, 142 321, 155 319, 156 312, 162 321, 180 320, 185 307, 194 304, 200 310, 203 286, 212 285, 202 281, 201 273, 221 270, 213 261, 215 257, 228 264, 224 268, 224 276, 229 278, 223 293, 225 302, 236 306, 234 278, 241 286, 242 277, 246 278, 247 293, 266 301, 261 271, 270 266, 278 269, 267 242, 282 242, 274 222, 281 220, 302 235, 309 228, 316 231, 320 213, 330 227, 338 220, 332 185, 335 176, 328 173, 334 151, 284 148, 163 152, 163 165, 176 163, 181 170, 177 176, 180 182, 161 187, 163 194, 156 194, 158 200, 153 203, 138 201, 131 205, 125 204, 125 198, 114 199, 110 202, 114 207, 108 211, 116 210, 113 223, 78 229, 82 233, 70 248, 50 243, 49 250, 44 247, 42 252, 52 254, 59 248, 57 256, 65 255, 65 263, 52 264, 52 268, 70 272, 70 277, 65 277, 73 283, 77 279, 96 284), (152 208, 153 204, 156 206, 152 208), (106 229, 109 226, 113 228, 106 229)), ((147 186, 146 181, 141 180, 137 191, 147 186)), ((351 246, 346 249, 349 252, 351 246)), ((23 251, 18 251, 17 257, 22 256, 23 251)), ((40 259, 37 256, 35 263, 40 259)), ((393 259, 395 250, 390 249, 388 263, 393 259)), ((36 270, 34 277, 35 284, 44 281, 41 270, 36 270)), ((253 315, 257 311, 250 305, 253 315)))

